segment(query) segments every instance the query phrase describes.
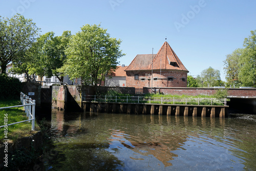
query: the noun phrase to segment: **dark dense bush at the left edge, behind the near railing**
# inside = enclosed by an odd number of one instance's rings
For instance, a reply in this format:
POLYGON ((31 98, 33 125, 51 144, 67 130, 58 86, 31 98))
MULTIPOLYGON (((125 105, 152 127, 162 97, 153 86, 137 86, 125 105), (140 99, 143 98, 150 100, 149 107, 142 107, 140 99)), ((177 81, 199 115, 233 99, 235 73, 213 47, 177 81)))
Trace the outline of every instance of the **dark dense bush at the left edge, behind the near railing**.
POLYGON ((18 78, 0 74, 0 99, 16 99, 22 90, 22 82, 18 78))

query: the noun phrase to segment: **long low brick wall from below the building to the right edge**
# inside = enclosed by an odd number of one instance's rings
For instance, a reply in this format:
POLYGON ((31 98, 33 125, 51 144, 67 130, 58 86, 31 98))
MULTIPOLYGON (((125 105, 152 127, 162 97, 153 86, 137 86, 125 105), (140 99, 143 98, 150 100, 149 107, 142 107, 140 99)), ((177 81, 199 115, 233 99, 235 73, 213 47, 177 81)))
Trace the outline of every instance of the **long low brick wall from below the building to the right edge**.
MULTIPOLYGON (((228 96, 232 97, 255 97, 256 98, 256 89, 227 89, 228 96)), ((217 89, 215 88, 157 88, 154 89, 155 93, 163 93, 163 94, 173 94, 173 95, 213 95, 215 94, 217 89)), ((143 88, 143 93, 151 93, 151 88, 143 88)))

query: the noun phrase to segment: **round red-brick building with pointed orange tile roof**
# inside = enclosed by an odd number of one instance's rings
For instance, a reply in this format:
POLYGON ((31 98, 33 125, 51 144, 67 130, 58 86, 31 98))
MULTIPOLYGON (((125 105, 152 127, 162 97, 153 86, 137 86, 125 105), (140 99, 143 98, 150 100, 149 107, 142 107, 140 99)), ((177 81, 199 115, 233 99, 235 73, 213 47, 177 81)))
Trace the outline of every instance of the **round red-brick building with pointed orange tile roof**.
POLYGON ((187 87, 188 70, 167 41, 157 54, 137 55, 124 71, 126 87, 187 87))

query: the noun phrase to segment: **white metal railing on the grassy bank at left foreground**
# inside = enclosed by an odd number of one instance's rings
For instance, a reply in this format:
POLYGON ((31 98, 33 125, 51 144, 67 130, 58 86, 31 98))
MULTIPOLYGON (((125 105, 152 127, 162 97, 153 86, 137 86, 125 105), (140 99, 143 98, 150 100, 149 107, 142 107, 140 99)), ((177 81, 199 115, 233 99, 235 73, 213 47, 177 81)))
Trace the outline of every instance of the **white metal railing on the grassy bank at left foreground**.
MULTIPOLYGON (((20 122, 10 123, 10 124, 7 124, 7 126, 17 124, 17 123, 32 121, 31 130, 34 131, 34 129, 35 129, 35 100, 32 100, 31 98, 29 98, 29 96, 20 92, 20 101, 22 101, 22 105, 8 106, 8 107, 0 108, 0 110, 10 109, 10 108, 18 108, 18 107, 24 106, 25 113, 27 114, 27 117, 29 117, 29 119, 23 120, 20 122)), ((6 125, 0 126, 0 127, 4 127, 4 126, 6 126, 6 125)))

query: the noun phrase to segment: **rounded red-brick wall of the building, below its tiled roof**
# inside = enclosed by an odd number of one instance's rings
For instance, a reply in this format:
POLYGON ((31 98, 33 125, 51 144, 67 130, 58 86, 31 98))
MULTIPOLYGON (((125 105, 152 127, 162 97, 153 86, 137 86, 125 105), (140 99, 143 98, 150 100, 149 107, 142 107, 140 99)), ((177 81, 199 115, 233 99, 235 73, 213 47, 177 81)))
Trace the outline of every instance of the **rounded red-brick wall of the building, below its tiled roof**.
MULTIPOLYGON (((148 87, 148 74, 151 71, 127 71, 126 72, 126 86, 142 89, 148 87), (138 79, 135 79, 135 75, 138 79)), ((152 86, 152 76, 150 76, 150 86, 152 86)), ((187 87, 187 72, 184 71, 154 71, 153 73, 153 87, 187 87)))

